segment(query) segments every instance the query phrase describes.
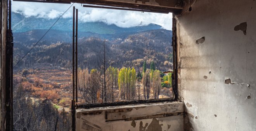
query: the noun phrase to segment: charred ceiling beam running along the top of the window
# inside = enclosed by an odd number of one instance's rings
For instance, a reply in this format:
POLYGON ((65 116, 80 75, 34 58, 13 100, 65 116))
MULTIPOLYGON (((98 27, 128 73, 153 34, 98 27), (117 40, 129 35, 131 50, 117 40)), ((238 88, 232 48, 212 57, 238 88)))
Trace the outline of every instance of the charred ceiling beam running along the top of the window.
MULTIPOLYGON (((82 3, 89 5, 102 5, 120 8, 131 8, 136 11, 149 10, 147 12, 177 13, 182 10, 179 0, 13 0, 22 2, 42 3, 82 3)), ((146 12, 146 11, 145 11, 146 12)))

